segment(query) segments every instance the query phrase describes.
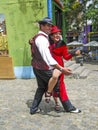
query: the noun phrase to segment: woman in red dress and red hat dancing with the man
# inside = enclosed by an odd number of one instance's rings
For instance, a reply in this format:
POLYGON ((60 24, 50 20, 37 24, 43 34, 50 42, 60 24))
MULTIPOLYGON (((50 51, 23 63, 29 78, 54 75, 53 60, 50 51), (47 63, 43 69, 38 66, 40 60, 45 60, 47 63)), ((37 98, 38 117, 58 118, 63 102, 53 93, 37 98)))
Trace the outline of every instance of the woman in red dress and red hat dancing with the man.
MULTIPOLYGON (((80 54, 80 51, 77 50, 76 52, 73 51, 72 53, 68 53, 68 48, 64 41, 61 40, 61 30, 57 26, 53 26, 50 34, 50 51, 53 56, 53 58, 62 66, 64 67, 63 59, 69 60, 74 55, 80 54)), ((48 83, 48 90, 45 93, 46 102, 50 101, 51 93, 58 81, 59 78, 59 97, 62 102, 62 105, 64 109, 67 112, 77 112, 79 113, 80 110, 76 109, 71 102, 69 101, 67 92, 66 92, 66 85, 64 84, 64 74, 62 73, 62 70, 54 69, 53 75, 49 80, 48 83)), ((56 85, 57 86, 57 85, 56 85)), ((53 97, 55 100, 55 110, 59 110, 59 104, 58 104, 58 92, 53 91, 53 97)))

